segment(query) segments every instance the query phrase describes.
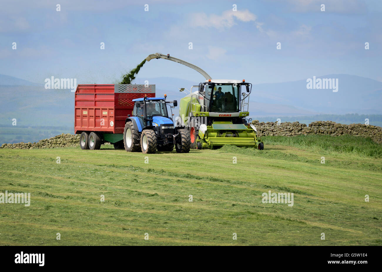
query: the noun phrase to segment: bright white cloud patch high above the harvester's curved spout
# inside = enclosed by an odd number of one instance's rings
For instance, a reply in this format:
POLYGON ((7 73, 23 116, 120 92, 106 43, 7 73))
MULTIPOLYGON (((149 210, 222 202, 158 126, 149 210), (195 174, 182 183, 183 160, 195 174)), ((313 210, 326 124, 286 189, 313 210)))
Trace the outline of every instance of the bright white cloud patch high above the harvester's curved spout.
POLYGON ((250 22, 256 21, 256 19, 256 15, 248 10, 227 10, 222 15, 206 14, 204 12, 193 13, 189 17, 189 22, 191 27, 215 27, 222 30, 236 25, 236 21, 250 22))

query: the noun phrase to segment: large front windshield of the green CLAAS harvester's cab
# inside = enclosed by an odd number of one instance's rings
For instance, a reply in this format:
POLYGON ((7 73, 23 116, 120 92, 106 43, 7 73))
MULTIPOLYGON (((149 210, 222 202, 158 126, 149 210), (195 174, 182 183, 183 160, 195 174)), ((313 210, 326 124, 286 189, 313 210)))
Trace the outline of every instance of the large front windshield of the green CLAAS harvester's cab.
POLYGON ((211 112, 238 112, 239 86, 240 84, 216 84, 211 94, 211 112))

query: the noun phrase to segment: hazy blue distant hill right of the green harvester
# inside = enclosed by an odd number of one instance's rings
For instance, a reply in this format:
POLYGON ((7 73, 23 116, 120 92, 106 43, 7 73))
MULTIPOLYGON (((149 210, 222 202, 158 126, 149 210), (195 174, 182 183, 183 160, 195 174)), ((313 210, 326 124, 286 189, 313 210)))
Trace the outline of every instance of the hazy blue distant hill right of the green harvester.
POLYGON ((251 101, 290 105, 320 114, 382 114, 382 82, 344 74, 317 78, 338 78, 338 91, 333 93, 326 89, 307 89, 306 79, 257 84, 253 85, 251 101))

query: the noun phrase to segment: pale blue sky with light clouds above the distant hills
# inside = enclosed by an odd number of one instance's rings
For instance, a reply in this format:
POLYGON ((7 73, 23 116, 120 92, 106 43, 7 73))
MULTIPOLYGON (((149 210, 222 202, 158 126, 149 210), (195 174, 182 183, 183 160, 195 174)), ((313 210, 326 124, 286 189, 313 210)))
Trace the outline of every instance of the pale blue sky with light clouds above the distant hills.
MULTIPOLYGON (((51 76, 116 83, 160 52, 214 78, 255 84, 327 74, 382 81, 381 27, 380 0, 13 0, 0 10, 0 74, 42 84, 51 76)), ((156 59, 143 66, 136 83, 153 77, 204 80, 188 67, 156 59)))

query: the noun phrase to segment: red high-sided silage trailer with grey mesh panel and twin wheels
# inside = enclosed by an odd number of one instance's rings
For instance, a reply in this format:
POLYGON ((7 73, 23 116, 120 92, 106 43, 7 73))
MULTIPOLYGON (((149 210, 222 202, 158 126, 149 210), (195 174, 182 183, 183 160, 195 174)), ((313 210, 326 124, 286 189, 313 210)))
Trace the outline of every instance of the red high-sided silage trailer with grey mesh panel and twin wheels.
POLYGON ((74 133, 81 133, 81 148, 99 149, 99 142, 111 142, 115 148, 123 148, 123 129, 134 108, 132 100, 145 94, 155 97, 155 85, 78 85, 74 99, 74 133), (91 145, 92 139, 96 145, 91 145))

